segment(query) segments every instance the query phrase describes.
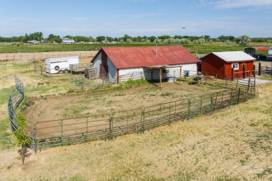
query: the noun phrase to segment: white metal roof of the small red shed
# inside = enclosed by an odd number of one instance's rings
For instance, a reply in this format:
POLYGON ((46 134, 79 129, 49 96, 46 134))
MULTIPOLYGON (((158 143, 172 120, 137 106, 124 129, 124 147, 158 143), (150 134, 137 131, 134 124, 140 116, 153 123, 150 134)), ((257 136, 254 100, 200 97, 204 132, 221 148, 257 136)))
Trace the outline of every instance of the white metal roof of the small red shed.
POLYGON ((249 54, 245 54, 242 51, 235 52, 212 52, 211 54, 215 54, 223 61, 226 62, 236 62, 236 61, 255 61, 256 58, 250 56, 249 54))

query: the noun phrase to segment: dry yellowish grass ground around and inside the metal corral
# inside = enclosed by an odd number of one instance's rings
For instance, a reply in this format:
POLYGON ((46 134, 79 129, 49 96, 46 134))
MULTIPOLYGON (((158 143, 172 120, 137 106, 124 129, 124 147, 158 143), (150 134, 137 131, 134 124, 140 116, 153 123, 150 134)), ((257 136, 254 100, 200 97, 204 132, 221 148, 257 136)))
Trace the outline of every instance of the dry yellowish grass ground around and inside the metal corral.
POLYGON ((214 90, 165 83, 163 89, 142 85, 67 94, 64 79, 33 74, 33 62, 2 63, 0 71, 0 180, 272 179, 271 83, 259 85, 259 95, 243 104, 113 141, 31 151, 22 165, 6 111, 14 74, 27 95, 21 110, 33 120, 135 109, 214 90))

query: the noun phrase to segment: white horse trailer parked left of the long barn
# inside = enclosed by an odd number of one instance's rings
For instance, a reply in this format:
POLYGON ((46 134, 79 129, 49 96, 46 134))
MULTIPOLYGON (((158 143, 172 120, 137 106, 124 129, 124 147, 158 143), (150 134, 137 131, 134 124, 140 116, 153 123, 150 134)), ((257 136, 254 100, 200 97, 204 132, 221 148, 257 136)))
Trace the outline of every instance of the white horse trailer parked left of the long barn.
POLYGON ((59 58, 45 59, 46 72, 50 74, 67 73, 70 70, 70 64, 77 64, 80 62, 78 56, 66 56, 59 58))

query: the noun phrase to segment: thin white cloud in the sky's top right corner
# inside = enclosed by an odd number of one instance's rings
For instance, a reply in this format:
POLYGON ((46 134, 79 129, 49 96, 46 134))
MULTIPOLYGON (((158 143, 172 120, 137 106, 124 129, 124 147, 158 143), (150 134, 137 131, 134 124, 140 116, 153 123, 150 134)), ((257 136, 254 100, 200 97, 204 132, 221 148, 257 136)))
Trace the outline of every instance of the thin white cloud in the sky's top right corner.
POLYGON ((272 0, 202 0, 202 3, 209 3, 216 9, 241 8, 250 6, 272 6, 272 0))

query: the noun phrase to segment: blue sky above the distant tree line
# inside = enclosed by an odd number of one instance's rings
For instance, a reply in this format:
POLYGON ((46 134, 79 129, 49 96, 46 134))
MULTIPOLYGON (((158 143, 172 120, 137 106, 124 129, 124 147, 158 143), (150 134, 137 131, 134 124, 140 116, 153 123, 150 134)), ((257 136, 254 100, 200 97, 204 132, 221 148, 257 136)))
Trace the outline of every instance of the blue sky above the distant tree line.
POLYGON ((0 7, 2 37, 272 37, 272 0, 0 0, 0 7))

